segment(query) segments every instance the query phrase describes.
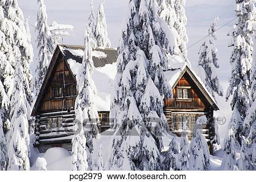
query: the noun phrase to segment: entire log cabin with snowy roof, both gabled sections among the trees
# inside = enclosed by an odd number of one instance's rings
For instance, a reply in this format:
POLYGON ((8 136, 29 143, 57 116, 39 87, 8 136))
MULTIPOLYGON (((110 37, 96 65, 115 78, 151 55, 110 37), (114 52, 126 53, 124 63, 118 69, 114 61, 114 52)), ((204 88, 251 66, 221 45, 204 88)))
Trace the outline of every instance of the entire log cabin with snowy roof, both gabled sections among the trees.
MULTIPOLYGON (((51 147, 72 148, 76 73, 77 68, 81 67, 83 55, 84 46, 70 45, 59 45, 53 53, 31 114, 36 118, 35 146, 40 152, 51 147)), ((96 107, 101 132, 110 128, 110 94, 117 72, 117 56, 118 52, 113 48, 97 48, 93 51, 93 80, 97 90, 96 107)), ((213 111, 218 110, 218 106, 195 72, 178 59, 174 59, 170 69, 165 72, 174 93, 174 99, 166 100, 164 107, 170 130, 178 136, 184 128, 190 132, 196 119, 207 115, 208 124, 204 126, 204 133, 210 142, 215 135, 213 111)))

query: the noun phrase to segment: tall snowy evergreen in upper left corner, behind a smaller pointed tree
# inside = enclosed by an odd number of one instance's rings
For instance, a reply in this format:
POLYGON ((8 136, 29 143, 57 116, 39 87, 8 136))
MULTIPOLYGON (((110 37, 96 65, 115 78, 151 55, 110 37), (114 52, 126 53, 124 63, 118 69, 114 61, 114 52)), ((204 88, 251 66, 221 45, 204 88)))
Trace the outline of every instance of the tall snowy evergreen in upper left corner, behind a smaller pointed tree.
MULTIPOLYGON (((1 31, 5 34, 5 52, 7 53, 7 62, 5 68, 5 80, 3 85, 6 87, 6 93, 9 97, 13 92, 13 70, 16 60, 21 60, 24 70, 23 85, 26 93, 26 99, 29 104, 32 102, 30 63, 33 60, 33 49, 30 43, 30 34, 26 28, 22 10, 16 0, 1 1, 3 10, 3 21, 1 22, 1 31)), ((27 106, 27 109, 31 108, 27 106)), ((30 113, 30 112, 28 112, 30 113)))

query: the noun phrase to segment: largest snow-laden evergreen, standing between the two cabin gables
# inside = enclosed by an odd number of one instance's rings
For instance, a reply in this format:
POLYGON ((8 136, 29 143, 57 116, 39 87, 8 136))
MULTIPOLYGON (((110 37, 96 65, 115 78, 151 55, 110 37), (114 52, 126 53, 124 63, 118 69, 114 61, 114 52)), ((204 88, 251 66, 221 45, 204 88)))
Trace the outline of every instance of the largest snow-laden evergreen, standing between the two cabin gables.
POLYGON ((163 69, 173 53, 173 32, 159 17, 155 1, 132 0, 122 25, 117 75, 110 118, 116 129, 110 168, 123 168, 126 156, 132 170, 160 169, 162 131, 166 124, 163 98, 172 96, 163 69), (123 143, 125 150, 121 150, 123 143))

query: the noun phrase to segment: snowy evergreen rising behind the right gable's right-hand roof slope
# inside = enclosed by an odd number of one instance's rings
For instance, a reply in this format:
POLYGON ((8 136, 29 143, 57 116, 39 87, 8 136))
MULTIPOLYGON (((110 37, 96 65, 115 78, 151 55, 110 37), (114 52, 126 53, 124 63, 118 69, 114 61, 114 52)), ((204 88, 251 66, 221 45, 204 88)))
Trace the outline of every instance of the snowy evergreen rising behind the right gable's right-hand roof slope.
POLYGON ((218 18, 215 18, 214 22, 210 24, 208 31, 209 36, 205 39, 204 43, 200 47, 198 62, 198 69, 199 72, 201 72, 199 75, 205 73, 202 81, 204 82, 205 86, 207 86, 207 89, 214 98, 214 93, 217 93, 219 96, 223 96, 223 89, 217 75, 217 68, 220 67, 218 65, 218 50, 214 46, 214 40, 217 39, 217 22, 218 18))

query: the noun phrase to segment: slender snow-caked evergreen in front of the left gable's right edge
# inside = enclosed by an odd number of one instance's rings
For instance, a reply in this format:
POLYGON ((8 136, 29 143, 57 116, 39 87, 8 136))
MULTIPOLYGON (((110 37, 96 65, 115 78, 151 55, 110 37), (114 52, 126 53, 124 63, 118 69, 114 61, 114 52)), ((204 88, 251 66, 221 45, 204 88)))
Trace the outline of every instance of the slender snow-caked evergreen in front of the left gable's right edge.
POLYGON ((94 69, 92 38, 90 38, 90 28, 88 26, 86 26, 85 30, 84 43, 85 50, 82 68, 76 75, 79 94, 75 103, 75 136, 72 140, 73 170, 92 169, 92 159, 88 157, 86 159, 86 151, 92 154, 94 149, 92 139, 97 138, 99 134, 97 126, 99 118, 95 105, 96 88, 92 79, 94 69), (86 150, 87 147, 88 150, 86 150))

